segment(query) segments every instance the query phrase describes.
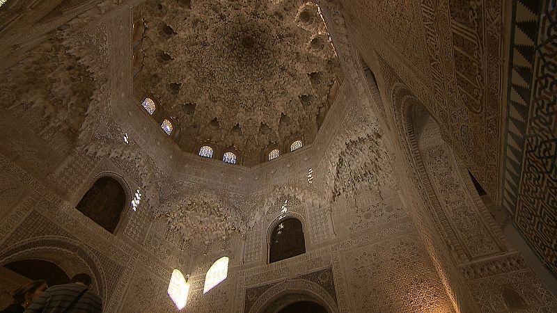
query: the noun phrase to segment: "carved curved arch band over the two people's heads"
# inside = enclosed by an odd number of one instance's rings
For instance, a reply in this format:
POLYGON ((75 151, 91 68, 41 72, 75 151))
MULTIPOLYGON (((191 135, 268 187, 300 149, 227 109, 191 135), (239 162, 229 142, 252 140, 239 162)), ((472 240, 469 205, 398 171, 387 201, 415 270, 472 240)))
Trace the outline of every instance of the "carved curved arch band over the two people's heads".
POLYGON ((50 262, 61 268, 68 278, 88 273, 93 278, 91 290, 107 300, 107 278, 100 261, 83 243, 61 236, 42 236, 0 250, 0 266, 29 259, 50 262))

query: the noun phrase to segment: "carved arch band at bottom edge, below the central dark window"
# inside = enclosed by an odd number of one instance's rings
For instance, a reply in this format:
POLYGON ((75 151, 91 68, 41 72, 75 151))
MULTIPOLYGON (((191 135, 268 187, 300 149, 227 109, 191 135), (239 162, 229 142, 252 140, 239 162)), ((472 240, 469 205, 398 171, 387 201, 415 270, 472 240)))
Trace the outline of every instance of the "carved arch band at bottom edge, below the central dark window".
POLYGON ((335 300, 323 287, 304 279, 284 280, 274 284, 254 301, 248 312, 278 313, 289 305, 302 301, 316 303, 327 313, 338 312, 335 300))

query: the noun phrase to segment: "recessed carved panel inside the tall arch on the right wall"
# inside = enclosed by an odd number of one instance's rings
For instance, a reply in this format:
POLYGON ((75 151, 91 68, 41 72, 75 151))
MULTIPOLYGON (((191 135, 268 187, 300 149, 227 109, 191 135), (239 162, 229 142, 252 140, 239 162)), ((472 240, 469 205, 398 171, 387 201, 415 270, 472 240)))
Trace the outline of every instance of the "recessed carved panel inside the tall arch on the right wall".
POLYGON ((479 200, 471 177, 443 136, 437 120, 417 101, 405 108, 405 130, 419 184, 457 262, 505 251, 500 230, 479 200))

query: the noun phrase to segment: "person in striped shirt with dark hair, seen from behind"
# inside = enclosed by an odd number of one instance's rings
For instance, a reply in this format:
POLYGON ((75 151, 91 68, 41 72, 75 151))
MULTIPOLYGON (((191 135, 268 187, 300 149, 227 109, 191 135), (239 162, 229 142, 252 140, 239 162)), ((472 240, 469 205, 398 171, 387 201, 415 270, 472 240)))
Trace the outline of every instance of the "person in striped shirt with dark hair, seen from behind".
POLYGON ((25 313, 101 313, 102 300, 89 290, 93 282, 87 274, 77 274, 69 284, 50 287, 31 303, 25 313))

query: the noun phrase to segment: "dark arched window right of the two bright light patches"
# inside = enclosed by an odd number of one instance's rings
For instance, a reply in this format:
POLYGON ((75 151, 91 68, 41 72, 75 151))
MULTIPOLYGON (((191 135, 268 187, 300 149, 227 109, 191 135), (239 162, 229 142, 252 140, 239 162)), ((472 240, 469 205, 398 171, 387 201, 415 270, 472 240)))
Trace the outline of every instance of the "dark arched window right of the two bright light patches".
POLYGON ((271 234, 269 263, 306 253, 306 241, 301 222, 287 218, 278 223, 271 234))

